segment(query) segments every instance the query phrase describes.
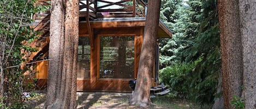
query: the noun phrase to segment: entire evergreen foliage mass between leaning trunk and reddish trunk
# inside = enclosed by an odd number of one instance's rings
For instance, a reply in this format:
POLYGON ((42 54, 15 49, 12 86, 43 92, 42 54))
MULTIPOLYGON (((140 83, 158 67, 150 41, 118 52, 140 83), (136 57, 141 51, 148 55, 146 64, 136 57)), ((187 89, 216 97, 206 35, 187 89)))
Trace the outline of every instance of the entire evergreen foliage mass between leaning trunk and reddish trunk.
POLYGON ((160 78, 178 95, 209 104, 216 98, 221 73, 217 1, 187 4, 169 14, 175 15, 169 23, 174 35, 171 40, 160 40, 160 78))

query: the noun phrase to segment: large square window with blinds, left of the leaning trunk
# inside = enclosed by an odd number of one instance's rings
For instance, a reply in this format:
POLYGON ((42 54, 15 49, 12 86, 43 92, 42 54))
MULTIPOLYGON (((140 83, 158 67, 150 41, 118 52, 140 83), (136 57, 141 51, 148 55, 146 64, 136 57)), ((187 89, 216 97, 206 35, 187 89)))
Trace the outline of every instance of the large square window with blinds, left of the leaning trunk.
POLYGON ((100 37, 100 79, 134 78, 134 37, 100 37))

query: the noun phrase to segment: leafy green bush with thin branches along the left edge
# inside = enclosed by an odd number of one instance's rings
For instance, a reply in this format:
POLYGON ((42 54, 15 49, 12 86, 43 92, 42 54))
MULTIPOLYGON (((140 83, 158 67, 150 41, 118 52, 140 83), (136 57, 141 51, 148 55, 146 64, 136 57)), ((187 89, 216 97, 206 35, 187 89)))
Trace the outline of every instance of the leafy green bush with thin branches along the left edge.
MULTIPOLYGON (((26 108, 21 101, 24 91, 24 70, 20 69, 21 49, 35 51, 21 44, 22 41, 32 42, 37 32, 30 27, 32 15, 45 7, 35 7, 35 0, 2 0, 0 1, 0 67, 1 67, 1 108, 26 108)), ((26 69, 25 69, 26 70, 26 69)))

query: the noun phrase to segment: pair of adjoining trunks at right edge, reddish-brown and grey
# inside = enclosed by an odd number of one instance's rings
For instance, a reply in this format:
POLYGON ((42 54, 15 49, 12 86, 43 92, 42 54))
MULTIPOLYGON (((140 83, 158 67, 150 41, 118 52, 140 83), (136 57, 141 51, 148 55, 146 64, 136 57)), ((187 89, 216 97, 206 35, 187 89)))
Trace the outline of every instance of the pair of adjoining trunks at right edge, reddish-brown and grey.
POLYGON ((242 95, 245 108, 256 108, 256 3, 218 2, 225 108, 234 108, 234 95, 242 95))

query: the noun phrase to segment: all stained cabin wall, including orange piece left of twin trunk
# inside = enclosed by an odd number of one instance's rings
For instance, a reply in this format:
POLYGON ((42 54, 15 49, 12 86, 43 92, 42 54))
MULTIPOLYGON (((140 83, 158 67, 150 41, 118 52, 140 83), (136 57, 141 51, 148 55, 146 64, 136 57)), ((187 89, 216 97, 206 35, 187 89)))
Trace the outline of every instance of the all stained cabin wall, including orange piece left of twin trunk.
MULTIPOLYGON (((134 79, 138 74, 140 52, 142 46, 144 27, 118 27, 111 25, 91 25, 92 27, 92 39, 90 41, 91 47, 91 64, 90 64, 90 79, 78 79, 77 91, 103 91, 103 92, 130 92, 128 82, 131 79, 100 79, 99 78, 99 56, 100 56, 100 36, 134 36, 134 79), (108 28, 102 28, 106 26, 108 28)), ((79 36, 89 37, 86 23, 79 24, 79 36)), ((47 61, 43 61, 37 64, 37 70, 40 72, 37 74, 37 78, 40 79, 40 87, 45 84, 47 79, 47 61)), ((154 77, 153 77, 154 78, 154 77)), ((154 79, 152 79, 152 86, 156 86, 154 79)))

